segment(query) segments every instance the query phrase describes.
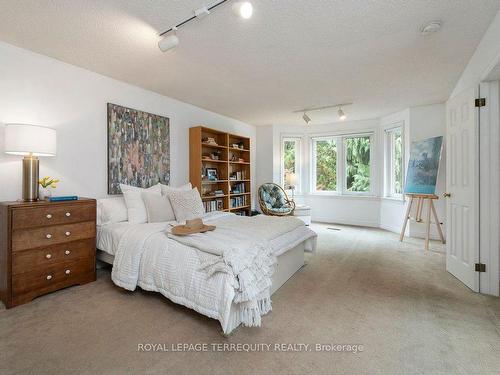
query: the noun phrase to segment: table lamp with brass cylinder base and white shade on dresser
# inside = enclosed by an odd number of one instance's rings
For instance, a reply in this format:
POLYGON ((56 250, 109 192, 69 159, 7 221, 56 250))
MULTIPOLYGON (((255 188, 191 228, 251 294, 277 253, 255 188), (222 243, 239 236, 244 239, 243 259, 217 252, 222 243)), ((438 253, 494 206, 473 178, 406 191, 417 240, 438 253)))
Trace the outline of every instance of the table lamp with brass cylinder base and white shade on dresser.
POLYGON ((38 200, 38 156, 56 155, 56 131, 36 125, 7 124, 5 153, 24 156, 23 200, 38 200))

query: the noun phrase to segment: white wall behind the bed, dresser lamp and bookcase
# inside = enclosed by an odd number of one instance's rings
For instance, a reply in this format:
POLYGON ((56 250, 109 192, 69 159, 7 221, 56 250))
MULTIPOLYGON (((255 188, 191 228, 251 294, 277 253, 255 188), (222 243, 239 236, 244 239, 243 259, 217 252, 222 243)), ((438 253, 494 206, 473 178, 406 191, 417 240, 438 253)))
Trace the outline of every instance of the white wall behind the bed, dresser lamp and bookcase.
POLYGON ((0 43, 0 200, 21 196, 21 158, 3 152, 3 124, 57 129, 57 156, 40 158, 40 174, 61 179, 57 194, 103 197, 107 192, 106 103, 170 118, 171 184, 189 179, 188 129, 205 125, 252 139, 254 126, 111 78, 0 43))

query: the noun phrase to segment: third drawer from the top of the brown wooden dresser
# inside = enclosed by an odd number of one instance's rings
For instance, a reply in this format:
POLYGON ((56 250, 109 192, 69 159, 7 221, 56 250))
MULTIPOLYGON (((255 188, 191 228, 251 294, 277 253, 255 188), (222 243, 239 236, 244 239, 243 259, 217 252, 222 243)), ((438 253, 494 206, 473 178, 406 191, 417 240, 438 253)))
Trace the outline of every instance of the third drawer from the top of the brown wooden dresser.
POLYGON ((64 244, 40 247, 12 253, 12 274, 18 275, 81 258, 93 258, 95 241, 93 238, 64 244))

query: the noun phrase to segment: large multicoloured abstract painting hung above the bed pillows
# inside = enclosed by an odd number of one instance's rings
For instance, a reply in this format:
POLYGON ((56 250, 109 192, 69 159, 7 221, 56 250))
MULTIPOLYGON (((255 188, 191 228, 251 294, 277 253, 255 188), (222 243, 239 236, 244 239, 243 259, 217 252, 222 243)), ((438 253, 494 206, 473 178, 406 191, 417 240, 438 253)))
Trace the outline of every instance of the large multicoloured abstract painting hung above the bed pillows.
POLYGON ((169 119, 108 103, 108 194, 169 181, 169 119))

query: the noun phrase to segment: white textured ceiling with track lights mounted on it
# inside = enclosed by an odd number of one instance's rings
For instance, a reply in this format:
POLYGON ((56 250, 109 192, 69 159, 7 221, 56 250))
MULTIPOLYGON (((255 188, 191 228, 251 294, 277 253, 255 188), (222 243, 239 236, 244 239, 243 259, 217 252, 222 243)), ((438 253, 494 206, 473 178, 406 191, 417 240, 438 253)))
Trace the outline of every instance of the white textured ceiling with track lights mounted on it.
MULTIPOLYGON (((203 0, 0 0, 0 40, 255 124, 303 124, 295 109, 338 102, 349 119, 444 101, 498 0, 253 0, 230 2, 178 32, 158 32, 203 0), (419 29, 442 20, 442 30, 419 29)), ((212 4, 208 1, 208 4, 212 4)), ((335 111, 313 123, 337 121, 335 111)))

